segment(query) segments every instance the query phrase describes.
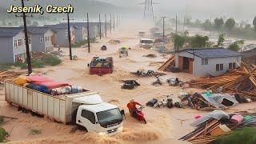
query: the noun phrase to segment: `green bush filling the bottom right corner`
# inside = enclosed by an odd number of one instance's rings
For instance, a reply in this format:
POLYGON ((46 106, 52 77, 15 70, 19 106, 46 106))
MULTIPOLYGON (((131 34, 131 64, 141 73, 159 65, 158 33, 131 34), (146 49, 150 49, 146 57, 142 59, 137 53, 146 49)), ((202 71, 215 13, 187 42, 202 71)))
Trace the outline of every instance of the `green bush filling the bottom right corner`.
POLYGON ((245 127, 235 130, 232 134, 218 137, 215 144, 251 144, 256 143, 256 127, 245 127))

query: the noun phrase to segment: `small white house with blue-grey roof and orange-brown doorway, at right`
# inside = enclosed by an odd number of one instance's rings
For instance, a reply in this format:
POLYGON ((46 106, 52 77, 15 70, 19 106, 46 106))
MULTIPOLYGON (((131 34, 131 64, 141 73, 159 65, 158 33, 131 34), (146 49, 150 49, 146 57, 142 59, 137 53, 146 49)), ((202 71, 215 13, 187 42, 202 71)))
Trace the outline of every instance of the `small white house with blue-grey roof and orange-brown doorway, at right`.
POLYGON ((241 58, 238 52, 224 48, 180 50, 175 54, 175 67, 197 77, 218 76, 237 68, 241 58))

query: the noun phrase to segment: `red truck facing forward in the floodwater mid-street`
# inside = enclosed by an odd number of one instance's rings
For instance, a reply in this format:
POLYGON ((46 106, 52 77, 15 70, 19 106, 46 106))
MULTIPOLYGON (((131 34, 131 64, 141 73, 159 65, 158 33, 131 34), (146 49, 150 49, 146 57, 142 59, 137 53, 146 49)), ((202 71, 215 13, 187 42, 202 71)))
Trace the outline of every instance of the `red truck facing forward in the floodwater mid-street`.
POLYGON ((113 58, 94 57, 90 64, 90 74, 111 74, 113 73, 113 58))

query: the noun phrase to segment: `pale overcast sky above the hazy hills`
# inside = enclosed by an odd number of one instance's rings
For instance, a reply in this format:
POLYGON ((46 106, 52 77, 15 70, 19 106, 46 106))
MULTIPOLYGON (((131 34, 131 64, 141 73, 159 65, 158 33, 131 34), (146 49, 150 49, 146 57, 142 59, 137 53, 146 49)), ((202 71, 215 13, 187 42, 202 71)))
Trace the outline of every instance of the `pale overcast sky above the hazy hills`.
MULTIPOLYGON (((141 6, 144 0, 101 0, 117 6, 141 6)), ((154 0, 157 15, 190 15, 192 18, 210 18, 216 16, 237 19, 252 19, 256 15, 256 0, 154 0)), ((143 8, 143 6, 141 6, 143 8)))

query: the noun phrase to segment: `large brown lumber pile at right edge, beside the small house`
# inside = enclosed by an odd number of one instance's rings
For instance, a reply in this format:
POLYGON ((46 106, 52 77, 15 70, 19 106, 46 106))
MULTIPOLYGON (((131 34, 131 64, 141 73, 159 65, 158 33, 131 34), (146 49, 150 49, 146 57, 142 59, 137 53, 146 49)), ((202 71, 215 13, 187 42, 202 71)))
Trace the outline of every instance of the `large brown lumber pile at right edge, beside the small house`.
POLYGON ((201 86, 213 91, 222 87, 225 93, 238 93, 256 101, 256 69, 242 62, 239 69, 229 70, 228 73, 216 78, 204 78, 190 82, 190 86, 201 86))

